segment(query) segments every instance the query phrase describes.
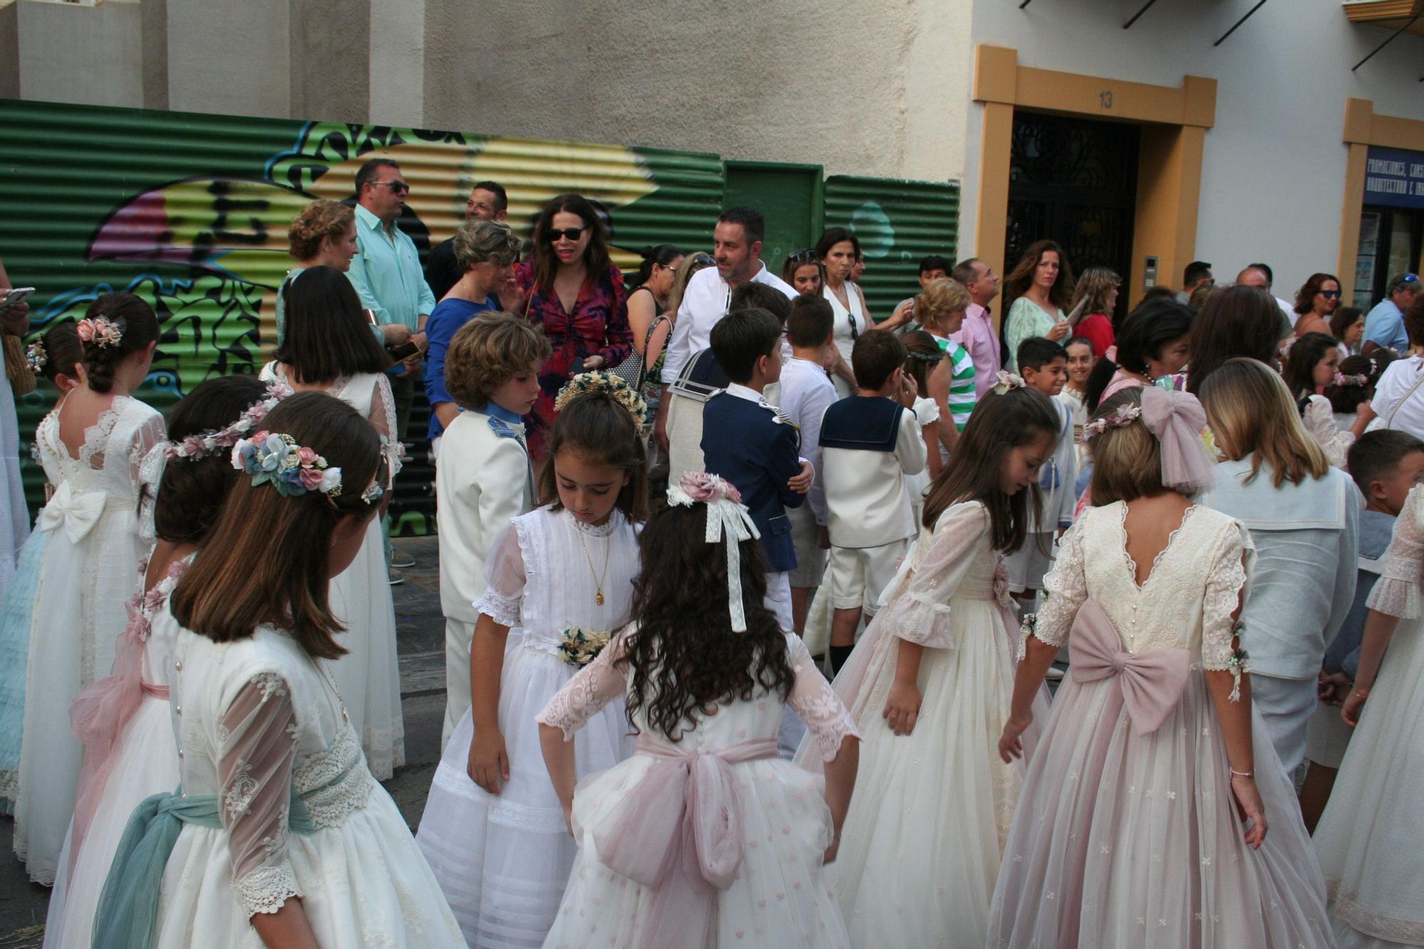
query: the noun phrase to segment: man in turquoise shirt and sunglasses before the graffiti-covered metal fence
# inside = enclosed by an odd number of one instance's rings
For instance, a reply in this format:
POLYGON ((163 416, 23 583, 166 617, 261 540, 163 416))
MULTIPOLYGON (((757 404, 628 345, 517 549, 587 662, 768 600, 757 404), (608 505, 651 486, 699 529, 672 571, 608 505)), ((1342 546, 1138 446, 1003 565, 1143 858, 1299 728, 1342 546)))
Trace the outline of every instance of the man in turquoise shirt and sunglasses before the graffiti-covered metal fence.
MULTIPOLYGON (((356 244, 347 276, 362 305, 376 315, 376 323, 402 323, 412 331, 410 341, 426 348, 426 318, 436 308, 436 298, 426 284, 416 244, 396 219, 406 208, 410 185, 400 165, 390 158, 372 158, 356 172, 356 244)), ((392 373, 390 390, 396 398, 396 430, 406 440, 410 403, 420 378, 420 353, 392 373)))

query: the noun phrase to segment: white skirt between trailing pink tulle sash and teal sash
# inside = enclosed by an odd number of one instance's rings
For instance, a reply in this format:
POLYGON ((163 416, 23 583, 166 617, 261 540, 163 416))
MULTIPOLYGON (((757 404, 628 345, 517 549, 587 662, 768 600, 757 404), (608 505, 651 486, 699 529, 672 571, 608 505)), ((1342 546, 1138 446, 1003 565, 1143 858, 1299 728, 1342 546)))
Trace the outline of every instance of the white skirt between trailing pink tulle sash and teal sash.
POLYGON ((168 700, 144 695, 128 721, 114 751, 114 769, 110 771, 104 797, 74 859, 73 872, 68 866, 74 824, 70 824, 60 855, 60 873, 50 895, 50 913, 44 921, 46 949, 88 949, 94 909, 104 892, 108 866, 114 862, 114 852, 130 815, 144 798, 178 787, 178 751, 168 708, 168 700))

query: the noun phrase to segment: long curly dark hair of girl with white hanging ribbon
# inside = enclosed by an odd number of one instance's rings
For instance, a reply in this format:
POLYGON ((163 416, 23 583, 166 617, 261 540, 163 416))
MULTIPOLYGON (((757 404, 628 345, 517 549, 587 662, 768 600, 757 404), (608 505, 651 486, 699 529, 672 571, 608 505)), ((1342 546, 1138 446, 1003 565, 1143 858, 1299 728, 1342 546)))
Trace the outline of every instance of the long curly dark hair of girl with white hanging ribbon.
MULTIPOLYGON (((782 701, 795 674, 786 634, 762 604, 766 560, 759 540, 740 541, 746 633, 732 631, 726 598, 726 543, 709 544, 705 504, 669 506, 639 537, 642 573, 634 583, 635 631, 619 665, 632 667, 628 721, 681 741, 699 715, 760 691, 782 701)), ((637 728, 637 725, 634 725, 637 728)))

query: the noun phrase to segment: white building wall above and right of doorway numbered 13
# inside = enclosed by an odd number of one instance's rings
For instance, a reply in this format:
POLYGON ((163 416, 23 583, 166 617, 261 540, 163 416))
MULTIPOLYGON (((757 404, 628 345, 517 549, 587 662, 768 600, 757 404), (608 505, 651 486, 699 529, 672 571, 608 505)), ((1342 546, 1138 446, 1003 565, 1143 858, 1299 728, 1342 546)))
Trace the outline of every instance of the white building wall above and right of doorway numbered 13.
MULTIPOLYGON (((1347 97, 1377 114, 1424 118, 1424 37, 1405 34, 1358 71, 1350 67, 1390 34, 1351 24, 1337 1, 1266 3, 1222 46, 1255 0, 1159 0, 1131 30, 1143 0, 1035 0, 1025 10, 977 0, 973 43, 1018 50, 1020 66, 1180 85, 1216 78, 1216 125, 1206 133, 1196 258, 1218 282, 1252 261, 1290 298, 1314 271, 1334 271, 1344 195, 1347 97)), ((961 247, 974 241, 983 107, 968 113, 961 247)), ((1052 237, 1052 235, 1044 235, 1052 237)), ((1161 275, 1176 284, 1180 274, 1161 275)))

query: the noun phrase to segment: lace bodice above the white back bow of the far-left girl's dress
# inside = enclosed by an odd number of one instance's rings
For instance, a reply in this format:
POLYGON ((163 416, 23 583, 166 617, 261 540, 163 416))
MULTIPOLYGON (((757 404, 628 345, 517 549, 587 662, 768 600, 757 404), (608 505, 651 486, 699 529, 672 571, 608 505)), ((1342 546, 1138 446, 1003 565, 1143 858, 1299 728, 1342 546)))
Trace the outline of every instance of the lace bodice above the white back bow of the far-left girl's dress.
POLYGON ((68 484, 74 494, 101 492, 137 510, 140 466, 164 433, 164 416, 138 399, 120 396, 84 430, 78 457, 60 440, 57 408, 40 422, 34 442, 51 484, 68 484))

